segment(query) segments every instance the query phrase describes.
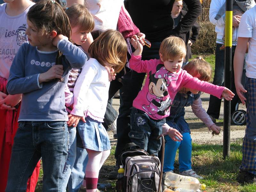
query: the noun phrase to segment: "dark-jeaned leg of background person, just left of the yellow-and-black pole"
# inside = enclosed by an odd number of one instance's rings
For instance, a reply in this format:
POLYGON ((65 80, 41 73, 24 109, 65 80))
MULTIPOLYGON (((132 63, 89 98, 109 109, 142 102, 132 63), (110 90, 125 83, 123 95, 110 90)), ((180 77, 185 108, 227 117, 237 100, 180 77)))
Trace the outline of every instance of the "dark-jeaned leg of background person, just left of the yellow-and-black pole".
MULTIPOLYGON (((220 50, 222 44, 216 44, 215 49, 215 72, 212 84, 223 86, 224 83, 224 50, 220 50)), ((210 95, 207 114, 218 119, 220 116, 221 99, 210 95)))

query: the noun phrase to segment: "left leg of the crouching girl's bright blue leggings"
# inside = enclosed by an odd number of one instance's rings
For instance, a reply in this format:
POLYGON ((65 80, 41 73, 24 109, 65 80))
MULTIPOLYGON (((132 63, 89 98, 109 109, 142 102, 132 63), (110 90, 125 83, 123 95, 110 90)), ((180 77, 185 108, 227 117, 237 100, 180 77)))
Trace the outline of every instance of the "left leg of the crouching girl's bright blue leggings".
POLYGON ((164 172, 168 172, 174 170, 175 156, 180 142, 173 141, 168 135, 166 135, 164 139, 166 141, 164 147, 164 172))

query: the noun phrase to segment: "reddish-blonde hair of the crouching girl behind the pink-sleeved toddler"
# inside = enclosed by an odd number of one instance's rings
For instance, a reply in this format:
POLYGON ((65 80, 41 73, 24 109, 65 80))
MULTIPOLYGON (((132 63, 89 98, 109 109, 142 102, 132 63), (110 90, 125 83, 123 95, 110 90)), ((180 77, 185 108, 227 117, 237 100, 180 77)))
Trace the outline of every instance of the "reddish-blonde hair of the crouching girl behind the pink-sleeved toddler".
MULTIPOLYGON (((208 82, 212 76, 211 65, 201 56, 189 61, 188 64, 183 67, 183 70, 186 70, 193 77, 199 76, 198 79, 201 81, 208 82)), ((188 88, 182 87, 179 92, 187 93, 188 91, 188 88)))

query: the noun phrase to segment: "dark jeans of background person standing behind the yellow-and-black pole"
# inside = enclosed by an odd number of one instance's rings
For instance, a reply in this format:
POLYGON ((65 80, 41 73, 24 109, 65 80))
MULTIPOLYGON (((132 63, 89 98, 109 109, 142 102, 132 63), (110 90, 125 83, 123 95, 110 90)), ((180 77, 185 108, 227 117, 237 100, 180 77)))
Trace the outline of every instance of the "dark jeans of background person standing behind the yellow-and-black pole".
MULTIPOLYGON (((215 49, 215 72, 212 84, 224 86, 224 56, 225 50, 220 50, 222 44, 216 44, 215 49)), ((236 94, 236 87, 235 87, 235 78, 234 78, 234 54, 235 54, 236 46, 232 46, 232 66, 231 66, 231 91, 235 93, 234 98, 231 100, 231 114, 236 109, 236 103, 239 101, 239 97, 236 94)), ((245 72, 244 72, 245 73, 245 72)), ((242 81, 244 82, 245 76, 243 75, 242 81)), ((220 116, 220 105, 221 99, 210 95, 209 100, 209 107, 207 110, 207 114, 213 116, 214 118, 218 119, 220 116)))

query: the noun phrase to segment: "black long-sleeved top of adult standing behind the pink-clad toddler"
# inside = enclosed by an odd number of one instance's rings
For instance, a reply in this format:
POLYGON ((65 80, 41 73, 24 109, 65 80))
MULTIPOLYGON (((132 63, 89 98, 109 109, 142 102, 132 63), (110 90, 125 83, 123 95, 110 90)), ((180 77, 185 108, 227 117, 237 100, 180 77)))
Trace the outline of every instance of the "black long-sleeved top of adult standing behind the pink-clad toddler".
POLYGON ((124 5, 134 24, 145 33, 149 41, 159 42, 170 35, 175 35, 186 42, 186 33, 201 14, 202 6, 200 0, 184 0, 184 2, 188 12, 175 29, 171 17, 174 0, 125 0, 124 5))

